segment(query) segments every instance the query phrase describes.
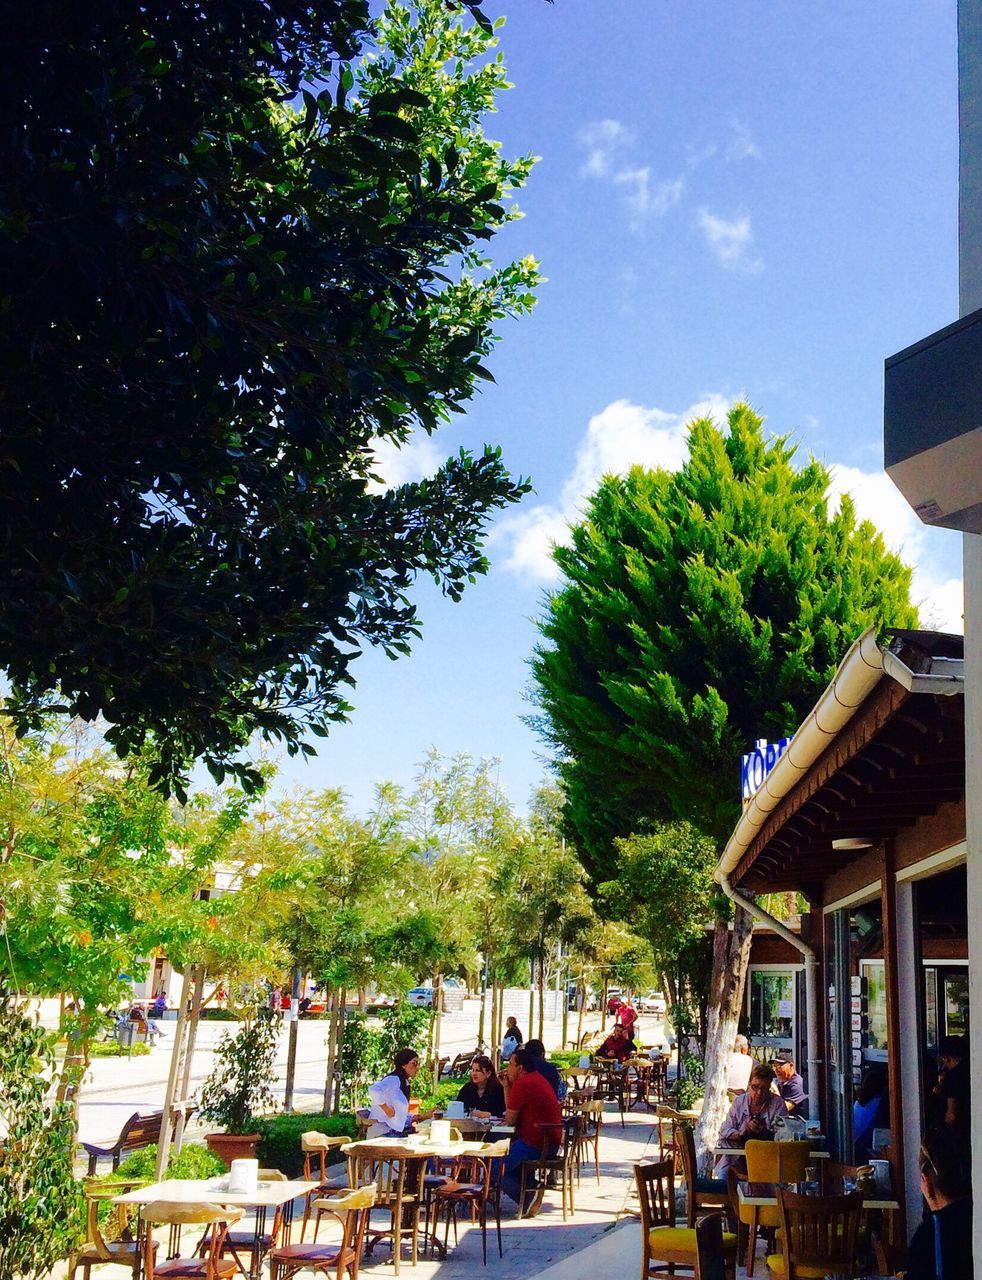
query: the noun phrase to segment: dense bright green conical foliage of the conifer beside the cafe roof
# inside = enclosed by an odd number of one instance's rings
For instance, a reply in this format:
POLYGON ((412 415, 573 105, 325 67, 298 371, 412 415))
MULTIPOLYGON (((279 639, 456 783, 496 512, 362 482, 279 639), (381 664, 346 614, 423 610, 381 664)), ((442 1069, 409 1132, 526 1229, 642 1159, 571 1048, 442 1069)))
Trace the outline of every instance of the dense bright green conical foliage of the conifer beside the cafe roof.
POLYGON ((743 751, 798 727, 864 627, 917 622, 910 571, 794 454, 745 404, 699 420, 681 470, 607 476, 554 552, 538 723, 595 879, 658 820, 727 836, 743 751))

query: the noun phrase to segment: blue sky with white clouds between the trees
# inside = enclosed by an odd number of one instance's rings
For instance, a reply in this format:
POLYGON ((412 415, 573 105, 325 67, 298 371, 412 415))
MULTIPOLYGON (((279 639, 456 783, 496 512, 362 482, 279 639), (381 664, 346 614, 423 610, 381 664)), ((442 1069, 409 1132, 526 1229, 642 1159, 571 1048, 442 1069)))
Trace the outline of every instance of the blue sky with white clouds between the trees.
POLYGON ((341 786, 356 810, 430 745, 499 756, 526 803, 549 540, 602 472, 677 466, 685 421, 740 396, 835 465, 917 564, 928 618, 960 630, 960 541, 881 470, 883 358, 958 315, 954 0, 487 8, 515 83, 488 132, 542 157, 495 252, 535 255, 548 284, 504 328, 497 385, 388 465, 494 442, 536 492, 497 522, 490 576, 457 605, 423 584, 416 653, 366 654, 352 722, 284 764, 282 785, 341 786))

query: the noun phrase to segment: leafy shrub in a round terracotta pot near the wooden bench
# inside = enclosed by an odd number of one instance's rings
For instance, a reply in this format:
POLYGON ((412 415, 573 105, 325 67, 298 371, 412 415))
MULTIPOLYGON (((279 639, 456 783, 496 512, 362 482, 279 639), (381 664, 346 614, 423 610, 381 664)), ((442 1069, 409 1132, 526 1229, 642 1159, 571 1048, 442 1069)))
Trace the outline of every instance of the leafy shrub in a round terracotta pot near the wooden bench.
POLYGON ((233 1160, 255 1157, 260 1137, 255 1119, 277 1105, 271 1083, 278 1039, 279 1019, 264 1014, 245 1021, 234 1036, 225 1032, 215 1068, 201 1085, 198 1114, 224 1130, 205 1134, 205 1142, 229 1167, 233 1160))

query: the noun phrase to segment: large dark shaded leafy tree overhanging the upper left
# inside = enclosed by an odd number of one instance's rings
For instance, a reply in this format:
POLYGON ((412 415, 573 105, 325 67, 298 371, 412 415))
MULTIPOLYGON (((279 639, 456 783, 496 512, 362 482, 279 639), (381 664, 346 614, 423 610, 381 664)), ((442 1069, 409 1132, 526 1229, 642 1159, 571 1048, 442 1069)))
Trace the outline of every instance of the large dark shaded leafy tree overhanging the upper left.
POLYGON ((310 751, 524 492, 497 449, 373 480, 462 410, 531 259, 481 128, 478 0, 41 0, 0 82, 0 668, 19 730, 104 716, 156 781, 310 751), (475 20, 476 15, 476 20, 475 20))

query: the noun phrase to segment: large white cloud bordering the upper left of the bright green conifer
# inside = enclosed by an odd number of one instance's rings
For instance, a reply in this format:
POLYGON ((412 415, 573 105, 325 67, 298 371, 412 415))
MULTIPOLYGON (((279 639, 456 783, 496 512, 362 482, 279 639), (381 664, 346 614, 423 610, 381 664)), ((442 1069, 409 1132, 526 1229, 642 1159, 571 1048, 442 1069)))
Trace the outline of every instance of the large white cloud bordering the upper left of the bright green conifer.
POLYGON ((624 475, 632 466, 676 471, 685 458, 685 428, 696 417, 725 421, 730 401, 707 396, 682 413, 645 408, 620 399, 590 419, 554 503, 538 503, 501 520, 492 543, 507 547, 503 567, 526 581, 553 584, 559 572, 552 561, 556 544, 570 540, 570 522, 580 518, 584 499, 604 475, 624 475))

